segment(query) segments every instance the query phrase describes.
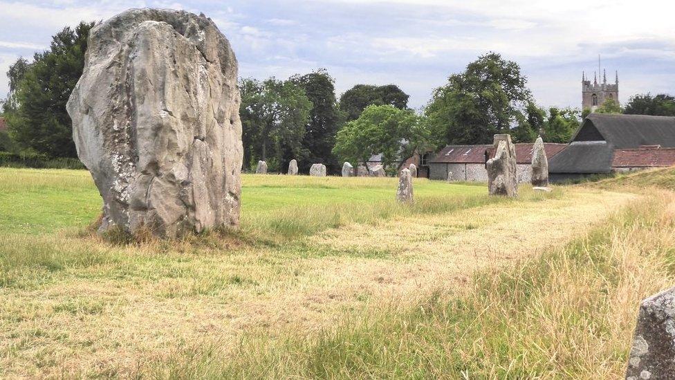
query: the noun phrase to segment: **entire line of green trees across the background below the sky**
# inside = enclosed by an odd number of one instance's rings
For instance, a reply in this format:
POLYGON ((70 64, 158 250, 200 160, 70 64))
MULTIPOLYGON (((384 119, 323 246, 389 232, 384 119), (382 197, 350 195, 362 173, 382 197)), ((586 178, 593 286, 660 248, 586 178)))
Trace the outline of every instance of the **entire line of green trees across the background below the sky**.
MULTIPOLYGON (((0 151, 77 156, 65 106, 82 75, 93 26, 66 27, 33 62, 21 57, 10 66, 1 114, 8 131, 0 132, 0 151)), ((300 170, 324 163, 338 172, 340 162, 363 163, 373 154, 391 168, 414 152, 491 143, 497 133, 510 133, 516 142, 542 134, 547 142, 566 143, 588 113, 539 107, 519 65, 492 52, 450 75, 418 111, 395 84, 357 84, 340 98, 334 84, 324 69, 286 80, 241 78, 244 169, 264 160, 270 170, 283 171, 297 159, 300 170)), ((624 108, 607 101, 596 112, 675 116, 675 98, 648 93, 624 108)))

